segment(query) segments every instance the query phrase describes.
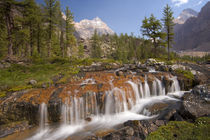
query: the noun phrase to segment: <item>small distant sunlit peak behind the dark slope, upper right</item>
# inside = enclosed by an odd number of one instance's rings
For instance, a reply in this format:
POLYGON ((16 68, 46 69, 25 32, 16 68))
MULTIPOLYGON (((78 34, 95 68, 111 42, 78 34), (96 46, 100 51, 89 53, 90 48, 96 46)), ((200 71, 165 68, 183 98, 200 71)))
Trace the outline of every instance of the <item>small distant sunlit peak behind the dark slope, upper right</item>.
POLYGON ((198 13, 194 11, 193 9, 185 9, 182 11, 182 13, 174 19, 174 23, 176 24, 184 24, 189 18, 191 17, 197 17, 198 13))

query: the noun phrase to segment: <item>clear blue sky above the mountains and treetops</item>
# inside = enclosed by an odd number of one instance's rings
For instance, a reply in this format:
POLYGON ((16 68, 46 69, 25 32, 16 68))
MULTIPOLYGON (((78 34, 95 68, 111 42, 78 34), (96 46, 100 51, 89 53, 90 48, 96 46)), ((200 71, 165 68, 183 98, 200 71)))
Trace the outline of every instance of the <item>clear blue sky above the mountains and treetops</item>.
MULTIPOLYGON (((42 0, 37 0, 42 1, 42 0)), ((153 13, 162 18, 162 11, 169 4, 174 16, 183 9, 200 11, 209 0, 60 0, 62 8, 69 6, 76 22, 82 19, 101 18, 116 33, 133 32, 140 35, 141 22, 153 13)))

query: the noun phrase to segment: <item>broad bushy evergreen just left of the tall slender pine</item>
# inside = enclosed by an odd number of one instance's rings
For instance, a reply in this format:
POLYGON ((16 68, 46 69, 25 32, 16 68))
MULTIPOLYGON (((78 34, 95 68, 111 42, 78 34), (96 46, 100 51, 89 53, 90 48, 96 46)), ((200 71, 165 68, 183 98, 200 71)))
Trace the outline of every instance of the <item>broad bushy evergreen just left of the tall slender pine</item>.
POLYGON ((142 21, 141 31, 143 35, 146 35, 148 38, 152 39, 154 46, 154 55, 157 55, 157 47, 162 45, 162 40, 165 38, 165 33, 163 33, 162 25, 160 20, 156 19, 152 14, 149 18, 146 18, 142 21))

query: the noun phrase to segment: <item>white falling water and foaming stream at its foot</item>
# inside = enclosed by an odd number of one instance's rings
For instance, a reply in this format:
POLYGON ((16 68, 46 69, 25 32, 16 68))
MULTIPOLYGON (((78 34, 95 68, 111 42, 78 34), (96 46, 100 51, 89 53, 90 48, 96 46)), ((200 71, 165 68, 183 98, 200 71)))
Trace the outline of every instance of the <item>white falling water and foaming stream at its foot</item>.
POLYGON ((138 84, 128 81, 133 89, 132 92, 125 93, 118 87, 113 87, 111 91, 104 93, 104 111, 99 109, 97 94, 89 93, 85 97, 66 98, 62 105, 62 124, 56 128, 45 127, 47 121, 47 107, 43 103, 40 112, 41 130, 29 140, 62 140, 74 134, 80 137, 94 135, 96 131, 111 129, 118 124, 128 120, 146 120, 156 116, 150 116, 150 112, 145 110, 145 106, 163 101, 177 100, 174 96, 182 96, 179 83, 176 77, 172 78, 173 83, 170 87, 170 94, 166 95, 165 87, 159 79, 155 79, 152 84, 152 92, 145 77, 145 82, 138 84), (143 112, 142 114, 139 114, 143 112), (86 118, 91 118, 86 122, 86 118))

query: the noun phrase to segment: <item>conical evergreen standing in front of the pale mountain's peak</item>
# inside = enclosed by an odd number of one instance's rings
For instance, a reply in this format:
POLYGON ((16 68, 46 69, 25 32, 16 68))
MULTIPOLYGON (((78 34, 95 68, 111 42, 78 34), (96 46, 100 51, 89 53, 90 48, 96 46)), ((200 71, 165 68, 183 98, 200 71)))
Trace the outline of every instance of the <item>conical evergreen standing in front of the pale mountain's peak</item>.
POLYGON ((97 31, 94 31, 94 35, 91 38, 92 40, 92 49, 91 49, 91 56, 92 58, 101 58, 102 50, 100 46, 100 40, 97 31))

